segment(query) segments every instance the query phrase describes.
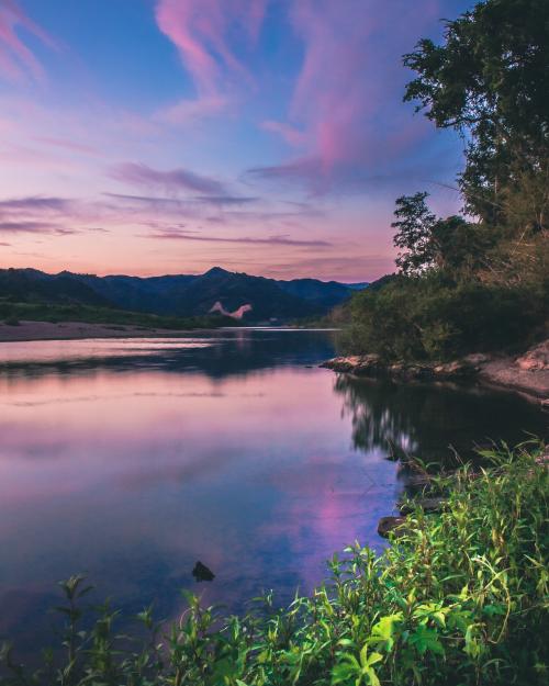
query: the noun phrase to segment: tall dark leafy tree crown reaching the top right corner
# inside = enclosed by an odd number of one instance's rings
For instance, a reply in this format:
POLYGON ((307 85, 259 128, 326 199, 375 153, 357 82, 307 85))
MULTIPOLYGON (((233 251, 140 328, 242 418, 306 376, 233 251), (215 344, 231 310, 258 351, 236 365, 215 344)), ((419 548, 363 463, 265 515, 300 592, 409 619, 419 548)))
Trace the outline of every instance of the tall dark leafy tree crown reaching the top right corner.
POLYGON ((549 2, 483 0, 446 22, 444 45, 422 40, 404 65, 418 75, 404 100, 467 140, 467 210, 501 224, 502 190, 549 159, 549 2))

